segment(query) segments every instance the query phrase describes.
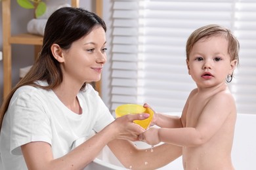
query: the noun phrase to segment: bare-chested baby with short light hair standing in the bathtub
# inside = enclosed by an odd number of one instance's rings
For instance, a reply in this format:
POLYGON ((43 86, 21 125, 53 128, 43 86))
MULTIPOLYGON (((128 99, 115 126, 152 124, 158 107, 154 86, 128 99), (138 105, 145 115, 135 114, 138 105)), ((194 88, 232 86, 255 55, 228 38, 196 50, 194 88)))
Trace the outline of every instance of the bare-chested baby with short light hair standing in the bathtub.
POLYGON ((221 25, 196 29, 186 43, 186 64, 197 88, 188 96, 181 118, 158 114, 154 123, 161 128, 148 129, 140 141, 182 146, 184 169, 234 169, 236 104, 226 82, 238 65, 239 47, 221 25))

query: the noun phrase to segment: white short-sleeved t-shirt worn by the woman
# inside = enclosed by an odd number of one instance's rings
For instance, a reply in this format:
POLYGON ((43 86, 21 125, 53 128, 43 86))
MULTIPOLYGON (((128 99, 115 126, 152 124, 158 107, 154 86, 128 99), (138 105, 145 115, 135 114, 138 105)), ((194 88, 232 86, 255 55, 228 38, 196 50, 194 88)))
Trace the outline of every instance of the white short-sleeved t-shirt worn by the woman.
MULTIPOLYGON (((39 84, 46 85, 45 82, 39 84)), ((63 92, 65 93, 65 92, 63 92)), ((52 90, 22 86, 12 96, 0 135, 0 153, 5 169, 27 169, 23 144, 44 141, 51 144, 54 158, 110 124, 114 117, 93 87, 87 84, 77 95, 82 114, 68 109, 52 90)))

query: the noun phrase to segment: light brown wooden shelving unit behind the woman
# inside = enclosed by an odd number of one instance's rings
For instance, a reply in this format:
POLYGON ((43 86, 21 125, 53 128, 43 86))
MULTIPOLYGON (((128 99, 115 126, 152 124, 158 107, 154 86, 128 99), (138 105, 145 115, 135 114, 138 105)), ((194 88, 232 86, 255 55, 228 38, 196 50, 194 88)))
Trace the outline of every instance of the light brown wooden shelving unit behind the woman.
MULTIPOLYGON (((14 2, 14 1, 12 1, 14 2)), ((72 7, 79 7, 79 0, 71 0, 72 7)), ((3 20, 3 99, 12 89, 12 44, 28 44, 35 46, 35 59, 43 44, 43 37, 30 33, 11 35, 11 0, 2 0, 3 20)), ((96 0, 96 13, 102 16, 102 0, 96 0)), ((100 93, 100 82, 95 84, 100 93)))

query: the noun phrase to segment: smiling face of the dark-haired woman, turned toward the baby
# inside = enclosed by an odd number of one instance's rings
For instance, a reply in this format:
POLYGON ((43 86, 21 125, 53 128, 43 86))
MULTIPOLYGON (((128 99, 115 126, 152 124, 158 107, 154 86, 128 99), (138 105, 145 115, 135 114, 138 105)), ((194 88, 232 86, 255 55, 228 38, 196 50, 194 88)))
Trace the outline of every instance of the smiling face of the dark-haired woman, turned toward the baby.
POLYGON ((72 43, 68 50, 62 51, 64 79, 84 82, 96 82, 104 63, 106 63, 106 35, 101 26, 93 28, 91 33, 72 43))

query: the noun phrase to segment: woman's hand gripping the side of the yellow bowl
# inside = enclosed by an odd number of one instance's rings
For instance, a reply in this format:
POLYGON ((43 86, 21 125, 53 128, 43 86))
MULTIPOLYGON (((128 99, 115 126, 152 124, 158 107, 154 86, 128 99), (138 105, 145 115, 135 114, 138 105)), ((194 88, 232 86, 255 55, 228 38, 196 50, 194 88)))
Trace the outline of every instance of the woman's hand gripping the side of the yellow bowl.
POLYGON ((114 129, 117 131, 116 139, 127 139, 129 141, 139 141, 140 133, 143 133, 145 129, 139 125, 133 123, 133 120, 144 120, 150 115, 147 113, 142 114, 127 114, 116 118, 112 123, 115 125, 114 129))

